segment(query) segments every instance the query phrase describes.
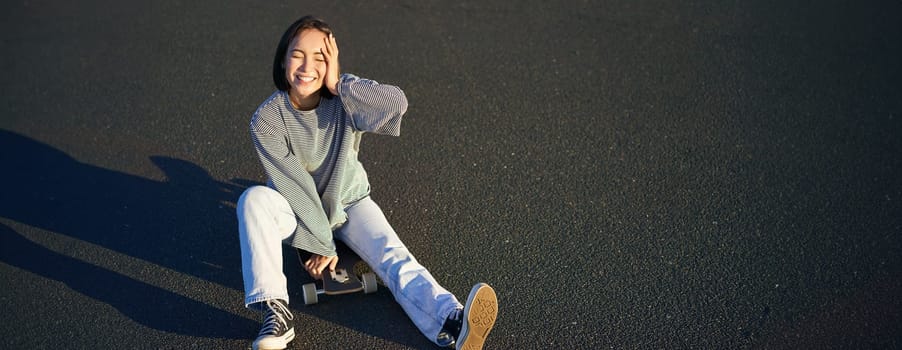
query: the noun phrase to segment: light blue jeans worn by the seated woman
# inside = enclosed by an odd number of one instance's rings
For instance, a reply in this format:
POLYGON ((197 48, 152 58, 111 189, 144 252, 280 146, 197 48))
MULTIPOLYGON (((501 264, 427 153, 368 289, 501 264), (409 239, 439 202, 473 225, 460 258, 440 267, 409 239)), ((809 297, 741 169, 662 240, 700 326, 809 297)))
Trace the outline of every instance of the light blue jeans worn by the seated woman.
MULTIPOLYGON (((237 211, 245 306, 288 301, 282 247, 297 227, 288 201, 269 187, 254 186, 241 195, 237 211)), ((436 342, 445 319, 463 305, 410 254, 376 202, 366 197, 345 213, 348 221, 332 232, 334 238, 373 268, 420 332, 436 342)))

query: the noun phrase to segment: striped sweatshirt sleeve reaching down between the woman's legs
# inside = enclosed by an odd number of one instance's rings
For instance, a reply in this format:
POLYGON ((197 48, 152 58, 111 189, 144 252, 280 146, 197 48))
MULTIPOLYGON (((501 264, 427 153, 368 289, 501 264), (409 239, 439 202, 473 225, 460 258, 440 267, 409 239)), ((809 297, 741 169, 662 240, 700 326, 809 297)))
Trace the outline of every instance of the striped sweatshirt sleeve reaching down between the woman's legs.
POLYGON ((283 135, 265 120, 254 117, 251 138, 266 175, 298 219, 292 245, 323 256, 334 256, 332 229, 313 177, 303 168, 283 135))

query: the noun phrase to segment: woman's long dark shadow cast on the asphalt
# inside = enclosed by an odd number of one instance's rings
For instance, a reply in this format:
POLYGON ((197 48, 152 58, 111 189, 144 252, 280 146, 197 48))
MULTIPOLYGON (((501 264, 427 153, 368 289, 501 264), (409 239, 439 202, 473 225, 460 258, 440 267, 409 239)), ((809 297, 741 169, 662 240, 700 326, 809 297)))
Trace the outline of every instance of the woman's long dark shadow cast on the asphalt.
MULTIPOLYGON (((237 223, 228 202, 241 186, 189 162, 152 157, 154 181, 81 163, 46 144, 0 130, 0 217, 89 242, 241 290, 237 223)), ((148 327, 240 339, 259 327, 241 317, 50 250, 0 224, 0 261, 65 283, 148 327), (202 320, 202 322, 198 322, 202 320)))

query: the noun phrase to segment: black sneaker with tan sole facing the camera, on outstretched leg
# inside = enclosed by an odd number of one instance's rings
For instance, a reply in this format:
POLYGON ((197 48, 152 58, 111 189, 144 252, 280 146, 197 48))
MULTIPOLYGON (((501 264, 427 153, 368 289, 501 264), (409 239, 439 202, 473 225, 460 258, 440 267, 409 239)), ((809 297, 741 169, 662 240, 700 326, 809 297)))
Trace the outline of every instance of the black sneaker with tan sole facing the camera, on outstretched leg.
POLYGON ((470 290, 463 310, 455 310, 445 321, 439 344, 455 345, 457 350, 479 350, 498 318, 498 297, 488 284, 479 283, 470 290))

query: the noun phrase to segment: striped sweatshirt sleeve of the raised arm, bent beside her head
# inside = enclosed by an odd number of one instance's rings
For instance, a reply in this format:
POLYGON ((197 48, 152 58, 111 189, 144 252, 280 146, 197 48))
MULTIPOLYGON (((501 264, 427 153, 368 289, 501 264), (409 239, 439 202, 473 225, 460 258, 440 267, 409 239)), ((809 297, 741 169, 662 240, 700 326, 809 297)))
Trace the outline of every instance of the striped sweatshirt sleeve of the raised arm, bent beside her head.
POLYGON ((338 96, 355 129, 391 136, 401 134, 407 96, 397 86, 342 74, 338 96))

